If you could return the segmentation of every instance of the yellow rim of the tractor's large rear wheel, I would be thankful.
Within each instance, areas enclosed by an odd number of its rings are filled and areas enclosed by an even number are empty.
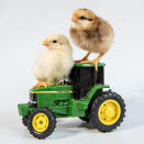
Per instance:
[[[121,115],[121,107],[115,100],[106,100],[101,103],[98,117],[106,125],[114,124]]]

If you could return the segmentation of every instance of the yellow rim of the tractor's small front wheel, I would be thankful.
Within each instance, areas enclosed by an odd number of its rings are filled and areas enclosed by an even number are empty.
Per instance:
[[[36,132],[44,132],[49,125],[49,120],[46,114],[37,113],[32,120],[32,125]]]

